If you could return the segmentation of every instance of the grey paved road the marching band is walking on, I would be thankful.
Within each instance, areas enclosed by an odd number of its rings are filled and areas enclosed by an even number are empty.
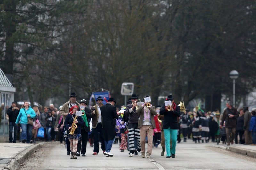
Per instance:
[[[89,145],[89,144],[88,144]],[[212,143],[194,144],[191,140],[187,143],[177,144],[176,158],[165,158],[160,156],[161,147],[153,148],[151,159],[138,156],[128,157],[128,151],[120,152],[118,144],[113,144],[111,153],[114,157],[106,157],[100,152],[99,155],[92,155],[93,148],[87,147],[86,157],[70,159],[66,150],[55,144],[49,154],[44,157],[41,165],[33,160],[23,164],[23,169],[239,169],[255,170],[256,159],[243,159],[245,156],[234,156],[234,154],[223,154],[212,150]],[[215,148],[216,149],[216,148]],[[44,149],[45,150],[45,149]],[[221,149],[220,149],[221,150]],[[229,152],[229,151],[227,151]],[[39,153],[39,152],[38,152]],[[165,152],[166,153],[166,152]],[[37,154],[37,153],[35,153]],[[40,157],[40,155],[37,155]],[[37,157],[36,156],[36,157]],[[41,155],[42,156],[42,155]],[[42,158],[42,157],[41,157]],[[35,165],[35,166],[34,166]]]

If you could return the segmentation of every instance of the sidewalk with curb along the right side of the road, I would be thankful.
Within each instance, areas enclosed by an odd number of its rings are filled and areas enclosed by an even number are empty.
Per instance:
[[[223,144],[215,144],[213,147],[216,148],[222,148],[222,149],[227,149],[229,151],[241,154],[241,155],[247,155],[253,158],[256,158],[256,146],[251,146],[251,145],[244,145],[244,144],[233,144],[230,146],[223,145]]]

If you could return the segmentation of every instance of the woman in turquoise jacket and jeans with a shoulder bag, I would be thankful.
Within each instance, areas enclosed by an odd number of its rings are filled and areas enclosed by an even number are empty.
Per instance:
[[[28,101],[24,101],[24,104],[21,106],[19,115],[16,119],[16,124],[19,124],[22,129],[21,132],[21,142],[22,143],[33,143],[31,140],[32,137],[32,128],[33,128],[33,118],[36,117],[35,111],[29,106]]]

